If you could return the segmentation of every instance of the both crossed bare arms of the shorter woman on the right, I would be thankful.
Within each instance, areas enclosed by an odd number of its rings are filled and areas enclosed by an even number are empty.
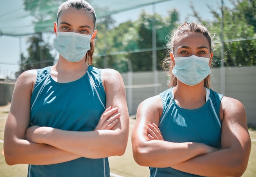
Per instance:
[[[135,161],[142,166],[172,167],[202,176],[241,176],[248,163],[251,141],[243,105],[223,97],[221,103],[222,148],[195,142],[164,141],[157,127],[162,114],[159,96],[141,103],[132,132]]]

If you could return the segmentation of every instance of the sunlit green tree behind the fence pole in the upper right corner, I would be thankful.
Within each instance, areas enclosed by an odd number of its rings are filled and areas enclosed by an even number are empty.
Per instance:
[[[256,65],[256,35],[255,35],[255,3],[256,0],[230,0],[233,7],[224,7],[224,52],[225,66],[255,66]],[[194,16],[198,21],[209,27],[210,31],[216,33],[214,42],[214,60],[216,65],[220,65],[221,55],[221,34],[222,34],[222,15],[209,7],[214,16],[212,22],[207,22],[199,17],[194,10]],[[220,7],[221,8],[221,7]],[[250,12],[252,11],[252,12]],[[254,15],[254,16],[253,16]]]

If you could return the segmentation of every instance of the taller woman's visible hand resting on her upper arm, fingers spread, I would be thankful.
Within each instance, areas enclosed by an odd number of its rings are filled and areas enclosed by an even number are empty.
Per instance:
[[[111,130],[119,121],[121,113],[118,113],[118,108],[109,106],[101,114],[99,122],[94,130]]]

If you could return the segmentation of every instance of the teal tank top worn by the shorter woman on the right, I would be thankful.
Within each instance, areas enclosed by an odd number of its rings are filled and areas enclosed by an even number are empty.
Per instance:
[[[173,98],[173,88],[160,93],[163,113],[159,129],[168,142],[198,142],[221,148],[220,101],[223,95],[207,89],[207,101],[201,108],[184,109]],[[200,167],[198,168],[200,170]],[[150,177],[196,177],[168,168],[150,167]]]

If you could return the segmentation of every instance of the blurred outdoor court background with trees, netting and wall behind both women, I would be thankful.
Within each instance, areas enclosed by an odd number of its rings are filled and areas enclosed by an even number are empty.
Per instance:
[[[26,176],[27,165],[7,166],[4,125],[18,76],[55,64],[53,23],[64,0],[8,0],[0,4],[0,176]],[[130,133],[137,106],[168,88],[161,67],[166,42],[178,26],[196,21],[213,38],[211,89],[240,100],[247,112],[252,151],[243,177],[256,175],[256,0],[88,0],[97,15],[92,66],[119,71],[126,86]],[[112,177],[146,177],[147,167],[111,157]]]

